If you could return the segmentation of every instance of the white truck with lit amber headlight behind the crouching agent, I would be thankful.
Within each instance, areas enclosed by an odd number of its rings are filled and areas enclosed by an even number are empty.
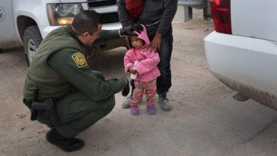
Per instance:
[[[100,13],[103,29],[120,28],[116,7],[116,0],[1,0],[0,49],[21,43],[29,63],[42,39],[53,29],[71,24],[80,10],[93,9]],[[123,40],[114,40],[100,48],[124,45]]]

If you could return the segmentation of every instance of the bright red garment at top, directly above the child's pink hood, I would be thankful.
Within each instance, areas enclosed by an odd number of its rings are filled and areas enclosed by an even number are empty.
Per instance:
[[[143,12],[143,0],[125,0],[125,9],[127,10],[129,21],[136,23],[141,12]]]

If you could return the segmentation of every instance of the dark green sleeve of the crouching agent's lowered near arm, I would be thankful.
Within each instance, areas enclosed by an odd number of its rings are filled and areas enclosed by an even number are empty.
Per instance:
[[[82,55],[74,49],[62,49],[51,55],[48,64],[78,90],[89,96],[93,101],[102,101],[120,92],[126,86],[124,78],[105,80],[99,71],[91,71],[88,65],[80,67],[73,55]],[[79,66],[79,67],[78,67]]]

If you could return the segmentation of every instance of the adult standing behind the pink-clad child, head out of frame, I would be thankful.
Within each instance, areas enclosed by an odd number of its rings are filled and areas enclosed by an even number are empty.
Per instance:
[[[177,0],[137,0],[139,3],[132,3],[134,0],[117,0],[119,21],[123,28],[134,23],[130,12],[140,13],[139,23],[146,26],[148,37],[151,41],[150,49],[159,51],[160,62],[158,64],[161,76],[157,78],[157,93],[159,104],[163,110],[171,110],[172,105],[168,101],[167,93],[171,87],[170,60],[172,53],[172,20],[177,11]],[[141,5],[141,2],[143,4]],[[132,95],[123,102],[122,107],[129,107]]]

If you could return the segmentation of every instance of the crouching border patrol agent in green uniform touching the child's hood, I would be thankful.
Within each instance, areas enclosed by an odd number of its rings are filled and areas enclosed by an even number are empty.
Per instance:
[[[24,103],[31,119],[51,128],[46,139],[65,151],[80,150],[80,132],[109,114],[114,94],[129,93],[126,78],[105,80],[102,73],[89,69],[87,57],[93,42],[105,42],[121,35],[134,35],[141,27],[101,31],[99,15],[80,12],[70,26],[55,29],[39,45],[28,68],[24,84]]]

